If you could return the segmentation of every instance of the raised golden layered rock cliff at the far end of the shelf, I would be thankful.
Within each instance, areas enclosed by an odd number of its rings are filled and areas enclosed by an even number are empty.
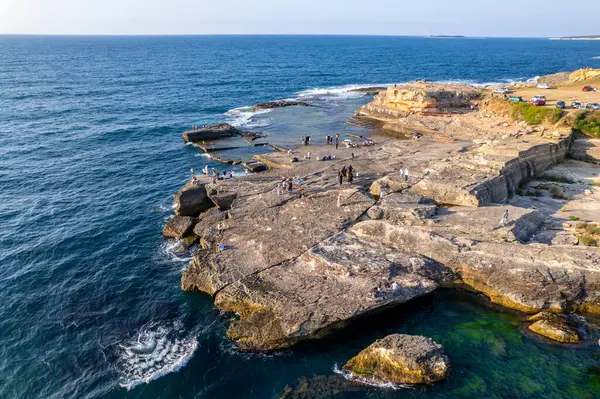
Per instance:
[[[357,115],[375,119],[393,119],[410,113],[454,113],[471,108],[478,99],[477,89],[462,85],[409,83],[390,86],[362,107]]]

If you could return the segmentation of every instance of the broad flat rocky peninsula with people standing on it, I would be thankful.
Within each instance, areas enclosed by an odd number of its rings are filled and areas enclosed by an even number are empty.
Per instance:
[[[600,313],[600,250],[588,246],[600,232],[600,168],[568,159],[569,126],[501,109],[469,86],[392,86],[357,111],[390,135],[349,141],[335,159],[323,160],[331,146],[311,146],[293,162],[259,156],[270,166],[260,174],[190,181],[165,229],[201,246],[182,288],[235,313],[228,336],[258,351],[439,287],[525,314]],[[344,165],[356,178],[340,185]],[[281,175],[302,187],[278,193]]]

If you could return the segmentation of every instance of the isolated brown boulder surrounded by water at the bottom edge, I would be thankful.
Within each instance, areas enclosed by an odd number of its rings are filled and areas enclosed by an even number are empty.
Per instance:
[[[392,334],[369,345],[344,370],[370,384],[430,384],[450,375],[450,361],[431,338]]]

